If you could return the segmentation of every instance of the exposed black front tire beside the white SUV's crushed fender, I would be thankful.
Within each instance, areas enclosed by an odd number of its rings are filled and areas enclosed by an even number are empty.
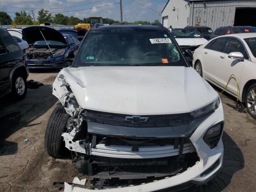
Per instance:
[[[61,136],[67,131],[66,123],[70,116],[64,107],[59,103],[53,110],[44,136],[44,149],[53,158],[70,157],[70,151],[65,147],[65,142]]]

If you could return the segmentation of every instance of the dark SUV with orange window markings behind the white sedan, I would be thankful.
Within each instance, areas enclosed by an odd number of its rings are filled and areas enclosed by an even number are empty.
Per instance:
[[[234,33],[255,33],[256,27],[252,26],[226,26],[226,27],[219,27],[217,28],[214,33],[211,35],[211,39],[227,35],[227,34],[234,34]]]

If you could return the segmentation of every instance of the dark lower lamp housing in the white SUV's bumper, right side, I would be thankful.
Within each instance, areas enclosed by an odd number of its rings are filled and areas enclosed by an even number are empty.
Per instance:
[[[217,146],[222,134],[222,127],[223,127],[223,122],[220,122],[210,127],[207,130],[207,132],[204,134],[204,137],[203,137],[204,142],[208,146],[210,146],[211,149]]]

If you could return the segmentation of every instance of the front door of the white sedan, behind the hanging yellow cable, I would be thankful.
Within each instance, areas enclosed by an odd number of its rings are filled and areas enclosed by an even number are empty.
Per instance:
[[[228,58],[228,54],[231,52],[240,52],[244,55],[244,61]],[[222,87],[226,86],[228,79],[232,74],[236,76],[236,80],[238,85],[240,85],[241,75],[244,68],[244,65],[249,62],[249,56],[247,50],[245,49],[244,44],[242,41],[236,37],[230,37],[228,40],[227,46],[224,50],[222,56],[222,70],[220,70],[220,79],[222,80]],[[234,95],[237,94],[237,86],[234,79],[230,80],[228,84],[228,91],[233,93]],[[242,90],[241,90],[242,91]]]

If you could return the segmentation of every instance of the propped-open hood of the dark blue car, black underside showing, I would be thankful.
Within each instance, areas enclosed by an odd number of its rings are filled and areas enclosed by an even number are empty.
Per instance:
[[[32,44],[36,41],[44,41],[41,32],[46,40],[59,41],[64,44],[67,43],[64,36],[60,32],[53,28],[44,26],[32,26],[24,28],[22,30],[22,36],[28,42],[28,44]]]

